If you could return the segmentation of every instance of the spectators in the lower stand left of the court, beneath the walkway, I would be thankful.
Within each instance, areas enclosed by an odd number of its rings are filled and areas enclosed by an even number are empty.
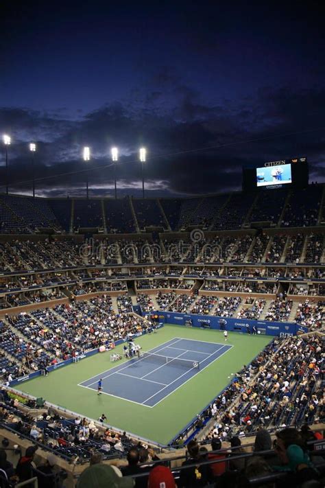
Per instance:
[[[138,316],[116,313],[108,296],[57,305],[53,310],[21,312],[7,316],[1,325],[0,349],[15,358],[19,371],[21,367],[37,371],[147,330],[147,323]],[[9,372],[12,379],[18,374]]]

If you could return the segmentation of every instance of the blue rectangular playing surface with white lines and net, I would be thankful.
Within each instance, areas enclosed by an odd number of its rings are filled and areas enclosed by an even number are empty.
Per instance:
[[[203,340],[173,338],[150,349],[142,357],[123,362],[78,386],[95,392],[101,378],[103,394],[154,407],[231,347]]]

